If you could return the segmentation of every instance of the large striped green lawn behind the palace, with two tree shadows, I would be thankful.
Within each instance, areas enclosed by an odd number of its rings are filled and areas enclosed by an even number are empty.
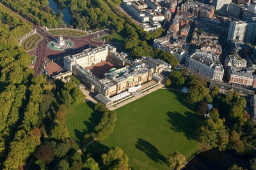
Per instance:
[[[173,150],[186,159],[199,150],[194,110],[179,92],[159,89],[118,108],[113,133],[100,143],[122,148],[134,169],[168,169],[164,161]]]

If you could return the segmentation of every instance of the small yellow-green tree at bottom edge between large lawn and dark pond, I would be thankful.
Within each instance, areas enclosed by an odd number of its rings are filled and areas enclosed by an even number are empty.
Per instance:
[[[186,158],[179,152],[175,151],[168,155],[168,157],[166,158],[166,164],[171,169],[179,170],[185,167]]]

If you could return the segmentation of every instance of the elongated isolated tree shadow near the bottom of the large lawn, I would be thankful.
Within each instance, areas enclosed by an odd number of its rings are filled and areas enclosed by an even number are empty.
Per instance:
[[[139,138],[135,146],[142,152],[146,153],[146,155],[155,162],[163,164],[166,160],[164,156],[159,153],[159,150],[148,141]]]

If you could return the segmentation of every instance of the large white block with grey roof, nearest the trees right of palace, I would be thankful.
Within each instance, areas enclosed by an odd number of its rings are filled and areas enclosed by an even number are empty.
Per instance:
[[[212,80],[222,81],[223,79],[224,69],[214,53],[196,50],[195,53],[186,57],[185,66]]]

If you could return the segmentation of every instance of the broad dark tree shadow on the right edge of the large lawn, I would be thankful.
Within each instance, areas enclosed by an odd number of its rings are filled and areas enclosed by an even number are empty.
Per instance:
[[[172,124],[171,129],[175,132],[184,132],[186,138],[194,139],[197,141],[198,139],[198,128],[200,124],[199,115],[195,115],[189,111],[186,111],[184,115],[180,114],[179,112],[167,112],[169,119],[167,120],[169,123]]]

